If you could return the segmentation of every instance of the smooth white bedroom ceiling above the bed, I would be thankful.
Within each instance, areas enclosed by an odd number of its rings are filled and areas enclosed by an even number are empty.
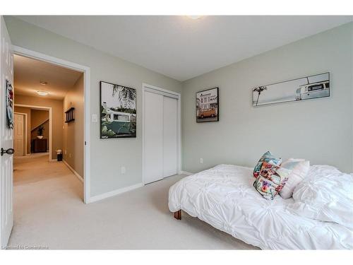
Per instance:
[[[352,16],[17,16],[185,81],[352,21]]]

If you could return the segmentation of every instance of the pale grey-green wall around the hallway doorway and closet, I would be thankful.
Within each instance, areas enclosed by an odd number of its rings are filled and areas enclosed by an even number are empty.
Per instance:
[[[137,90],[136,139],[100,139],[99,123],[91,123],[91,196],[142,182],[141,107],[142,83],[181,93],[182,86],[167,76],[100,52],[48,30],[5,17],[13,45],[90,67],[90,113],[99,114],[100,81],[118,83]],[[112,33],[114,34],[114,33]],[[109,41],[109,40],[102,40]],[[61,130],[62,131],[62,130]],[[126,174],[120,174],[120,167]]]

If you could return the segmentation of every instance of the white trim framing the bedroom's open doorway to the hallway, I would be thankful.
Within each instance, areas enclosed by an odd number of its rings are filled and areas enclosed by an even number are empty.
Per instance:
[[[56,64],[59,66],[66,67],[68,69],[73,69],[76,71],[80,71],[83,73],[84,79],[84,104],[85,104],[85,111],[84,111],[84,120],[85,126],[83,128],[84,131],[84,160],[83,160],[83,176],[84,176],[84,195],[83,201],[85,204],[90,202],[90,67],[83,66],[80,64],[73,63],[72,61],[66,61],[63,59],[59,59],[56,57],[49,56],[47,54],[42,54],[40,52],[35,52],[30,49],[25,49],[23,47],[19,47],[13,45],[13,53],[18,55],[23,55],[25,57],[30,57],[33,59],[38,59],[40,61],[47,61],[51,64]]]

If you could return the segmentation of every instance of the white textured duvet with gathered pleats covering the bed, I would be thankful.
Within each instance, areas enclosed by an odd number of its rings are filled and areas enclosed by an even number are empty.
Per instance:
[[[261,249],[353,249],[353,229],[297,216],[287,210],[292,198],[263,199],[254,180],[250,167],[217,165],[174,184],[169,210],[181,209]]]

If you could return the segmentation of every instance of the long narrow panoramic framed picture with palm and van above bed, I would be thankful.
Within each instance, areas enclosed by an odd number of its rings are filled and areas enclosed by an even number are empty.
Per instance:
[[[289,81],[253,88],[253,106],[310,100],[330,96],[330,73],[304,76]]]

